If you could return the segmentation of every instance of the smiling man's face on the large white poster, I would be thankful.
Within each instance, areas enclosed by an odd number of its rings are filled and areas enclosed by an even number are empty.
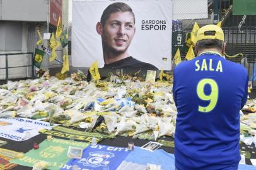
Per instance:
[[[134,16],[129,11],[110,14],[101,33],[106,50],[115,54],[125,52],[135,33]]]

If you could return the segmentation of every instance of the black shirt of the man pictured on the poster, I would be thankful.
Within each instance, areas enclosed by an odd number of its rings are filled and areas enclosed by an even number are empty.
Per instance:
[[[139,60],[136,60],[132,57],[127,57],[125,59],[119,60],[117,62],[113,62],[111,64],[105,64],[103,69],[146,69],[151,71],[156,71],[158,68],[156,68],[154,65],[141,62]]]

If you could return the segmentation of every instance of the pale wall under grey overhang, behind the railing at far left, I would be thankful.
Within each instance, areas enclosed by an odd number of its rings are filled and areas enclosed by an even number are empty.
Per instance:
[[[0,23],[0,54],[27,52],[27,28],[26,23]],[[3,38],[3,39],[2,39]],[[30,65],[31,55],[8,55],[8,67]],[[6,67],[5,55],[0,55],[0,68]],[[9,78],[21,78],[31,76],[29,67],[9,69]],[[0,79],[6,78],[6,70],[0,69]]]

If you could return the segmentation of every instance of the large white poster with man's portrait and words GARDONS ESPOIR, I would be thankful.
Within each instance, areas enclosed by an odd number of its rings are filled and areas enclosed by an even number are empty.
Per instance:
[[[139,60],[171,69],[172,1],[73,1],[72,16],[73,67],[90,67],[97,60],[102,68],[124,59],[125,52],[133,68]],[[121,64],[126,68],[127,60]]]

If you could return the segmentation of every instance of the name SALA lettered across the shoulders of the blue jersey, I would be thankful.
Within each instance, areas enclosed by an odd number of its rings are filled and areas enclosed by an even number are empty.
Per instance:
[[[199,60],[195,60],[195,71],[216,71],[223,72],[221,60],[218,61],[216,67],[212,67],[212,59],[209,60],[207,64],[206,59],[202,60],[202,63],[199,63]]]

